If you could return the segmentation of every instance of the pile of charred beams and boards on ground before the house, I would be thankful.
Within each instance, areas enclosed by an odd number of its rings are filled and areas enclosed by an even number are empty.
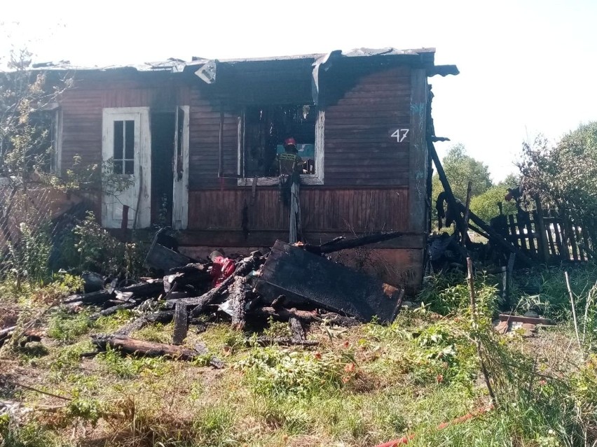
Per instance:
[[[399,236],[398,232],[385,232],[338,238],[321,246],[276,241],[268,253],[254,251],[231,259],[214,252],[209,260],[198,262],[154,242],[146,263],[163,274],[71,295],[62,306],[74,312],[92,308],[92,320],[121,309],[134,311],[135,318],[113,334],[92,336],[98,352],[110,346],[122,353],[194,360],[207,355],[207,348],[185,343],[189,328],[202,331],[215,321],[228,321],[242,330],[247,343],[315,346],[317,341],[307,339],[308,327],[314,322],[351,326],[373,319],[394,320],[404,290],[332,262],[326,255]],[[288,322],[291,336],[259,336],[271,321]],[[171,343],[132,337],[135,331],[158,322],[173,322]],[[215,357],[209,363],[223,365]]]

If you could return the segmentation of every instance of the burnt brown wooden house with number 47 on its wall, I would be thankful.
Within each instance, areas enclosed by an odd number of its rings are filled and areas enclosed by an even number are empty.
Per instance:
[[[107,228],[170,225],[181,253],[245,253],[288,240],[275,160],[292,137],[301,157],[299,239],[397,230],[343,262],[411,288],[430,231],[434,49],[334,51],[74,73],[55,108],[55,166],[107,162],[132,180],[96,197]]]

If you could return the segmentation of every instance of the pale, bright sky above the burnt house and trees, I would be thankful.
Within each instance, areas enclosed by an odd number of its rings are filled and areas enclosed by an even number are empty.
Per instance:
[[[8,2],[0,55],[106,66],[167,57],[261,57],[352,48],[437,48],[459,76],[430,79],[440,155],[452,143],[516,171],[521,143],[597,120],[597,0]],[[155,5],[155,6],[154,6]]]

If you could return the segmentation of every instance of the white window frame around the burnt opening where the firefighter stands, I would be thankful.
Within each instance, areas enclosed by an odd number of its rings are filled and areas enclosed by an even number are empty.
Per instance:
[[[245,126],[244,115],[238,119],[238,186],[252,186],[253,178],[245,177]],[[325,111],[317,113],[315,122],[315,173],[301,174],[302,185],[323,185],[324,184],[324,157],[325,155]],[[258,177],[257,186],[273,186],[280,183],[277,177]]]

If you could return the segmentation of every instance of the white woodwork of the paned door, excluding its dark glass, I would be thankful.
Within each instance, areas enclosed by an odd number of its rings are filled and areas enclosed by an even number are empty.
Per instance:
[[[123,206],[128,206],[128,228],[151,225],[151,127],[149,107],[104,108],[102,115],[102,162],[114,158],[114,122],[135,121],[133,184],[123,192],[108,194],[102,178],[102,226],[121,228]],[[109,166],[112,169],[112,166]]]

